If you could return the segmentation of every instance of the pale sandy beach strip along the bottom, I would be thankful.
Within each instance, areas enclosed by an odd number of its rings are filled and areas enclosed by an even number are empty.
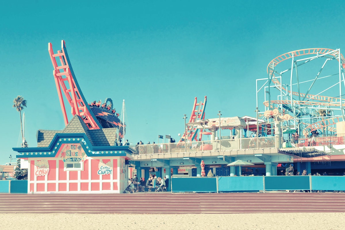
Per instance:
[[[345,229],[345,213],[81,214],[4,213],[0,229]]]

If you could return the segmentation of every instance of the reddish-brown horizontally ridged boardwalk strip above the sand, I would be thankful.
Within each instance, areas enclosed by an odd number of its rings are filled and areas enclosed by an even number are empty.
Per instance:
[[[345,193],[0,194],[0,213],[345,212]]]

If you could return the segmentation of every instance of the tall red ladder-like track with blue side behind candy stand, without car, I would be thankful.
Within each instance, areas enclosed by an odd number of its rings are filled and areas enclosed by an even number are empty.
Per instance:
[[[48,52],[54,67],[53,75],[65,125],[68,124],[68,118],[65,103],[63,101],[63,94],[72,108],[71,113],[73,116],[78,115],[83,117],[84,122],[88,125],[89,129],[102,128],[96,116],[90,111],[90,107],[81,92],[68,57],[65,41],[61,41],[61,50],[58,50],[56,54],[54,54],[52,44],[49,43]],[[57,62],[57,58],[60,61],[59,64]]]

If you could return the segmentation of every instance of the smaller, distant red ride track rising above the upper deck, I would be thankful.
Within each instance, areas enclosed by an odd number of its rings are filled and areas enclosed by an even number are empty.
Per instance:
[[[202,119],[205,119],[205,108],[206,108],[207,96],[205,96],[204,102],[197,103],[197,97],[194,98],[194,105],[192,112],[189,117],[189,122],[197,122]],[[198,107],[197,107],[198,106]],[[187,126],[185,132],[182,135],[182,138],[178,143],[184,142],[183,140],[196,140],[197,141],[198,129],[196,126]]]

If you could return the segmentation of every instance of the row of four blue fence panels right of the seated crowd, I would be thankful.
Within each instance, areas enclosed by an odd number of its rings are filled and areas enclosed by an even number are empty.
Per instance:
[[[171,192],[344,191],[344,176],[171,177]]]

